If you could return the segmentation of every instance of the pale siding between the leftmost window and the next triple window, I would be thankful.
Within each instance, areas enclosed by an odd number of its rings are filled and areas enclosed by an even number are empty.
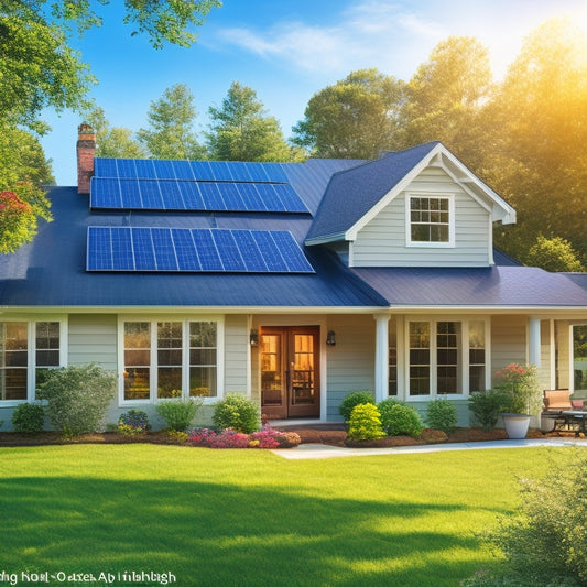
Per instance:
[[[117,317],[113,314],[70,314],[69,365],[97,362],[107,370],[117,367]]]

